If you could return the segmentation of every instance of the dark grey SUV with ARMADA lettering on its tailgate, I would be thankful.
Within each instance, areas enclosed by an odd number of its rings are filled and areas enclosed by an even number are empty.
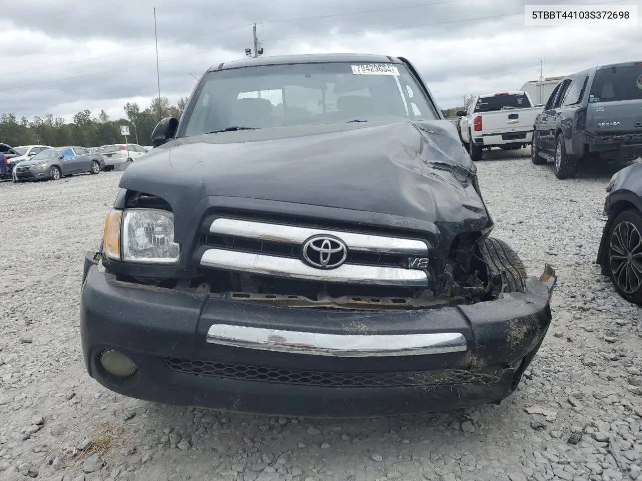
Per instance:
[[[593,67],[555,87],[535,118],[533,164],[553,162],[573,178],[586,158],[627,162],[642,156],[642,62]]]

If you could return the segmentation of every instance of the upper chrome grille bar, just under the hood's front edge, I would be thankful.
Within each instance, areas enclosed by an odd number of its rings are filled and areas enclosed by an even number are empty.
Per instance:
[[[209,232],[258,239],[260,241],[289,242],[291,244],[302,244],[313,235],[329,234],[341,239],[348,246],[348,249],[354,251],[380,254],[428,255],[428,244],[416,239],[398,239],[397,237],[385,237],[383,235],[338,232],[282,224],[240,221],[238,219],[223,219],[222,217],[214,219],[209,226]]]

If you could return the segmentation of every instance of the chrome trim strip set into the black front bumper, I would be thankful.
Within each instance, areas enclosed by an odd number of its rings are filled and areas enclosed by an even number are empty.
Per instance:
[[[467,350],[466,339],[459,332],[345,335],[226,324],[211,326],[207,331],[207,342],[235,348],[333,357],[419,356]]]

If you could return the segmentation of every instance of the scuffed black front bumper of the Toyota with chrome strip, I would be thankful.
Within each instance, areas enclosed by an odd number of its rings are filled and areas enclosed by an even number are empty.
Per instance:
[[[97,264],[87,253],[80,328],[85,366],[100,384],[169,405],[308,418],[501,401],[544,340],[555,285],[550,269],[502,300],[347,312],[119,282]],[[137,371],[109,375],[103,350],[125,353]]]

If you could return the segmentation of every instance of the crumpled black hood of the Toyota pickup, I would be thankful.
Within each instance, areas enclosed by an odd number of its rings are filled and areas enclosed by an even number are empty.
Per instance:
[[[175,212],[223,196],[483,224],[475,173],[449,121],[364,122],[172,140],[130,165],[120,187]]]

